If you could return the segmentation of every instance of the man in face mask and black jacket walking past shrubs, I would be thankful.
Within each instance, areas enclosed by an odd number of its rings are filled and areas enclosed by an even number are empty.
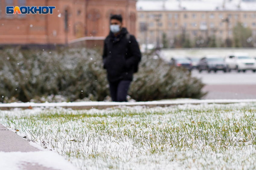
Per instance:
[[[110,33],[104,41],[103,63],[107,69],[110,94],[114,102],[127,102],[126,96],[141,60],[135,37],[123,28],[121,15],[110,18]]]

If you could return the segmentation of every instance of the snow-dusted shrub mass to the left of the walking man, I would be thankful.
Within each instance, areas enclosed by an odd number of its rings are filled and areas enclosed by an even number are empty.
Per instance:
[[[67,101],[88,96],[104,100],[108,95],[101,56],[95,50],[6,49],[0,56],[0,102],[2,96],[26,102],[51,94],[67,97]]]

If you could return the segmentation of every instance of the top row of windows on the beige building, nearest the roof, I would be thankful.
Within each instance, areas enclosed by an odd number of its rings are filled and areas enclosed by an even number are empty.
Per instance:
[[[243,18],[248,18],[249,16],[250,16],[251,18],[256,18],[256,13],[252,13],[252,14],[244,13],[242,16],[243,16]],[[139,14],[139,17],[140,17],[140,18],[144,18],[144,17],[145,17],[145,16],[144,16],[144,13],[140,13],[140,14]],[[147,17],[148,17],[148,18],[151,18],[151,19],[158,17],[159,19],[161,19],[161,18],[162,18],[162,14],[148,14]],[[184,17],[185,19],[186,19],[186,18],[189,18],[189,14],[186,14],[186,13],[185,13],[185,14],[183,15],[183,17]],[[191,14],[191,17],[195,19],[195,18],[198,17],[198,15],[195,14],[195,13],[192,13],[192,14]],[[224,16],[222,13],[220,13],[220,14],[218,15],[218,17],[219,17],[220,19],[223,19],[225,16]],[[228,14],[228,18],[232,18],[232,17],[234,17],[235,19],[238,19],[238,18],[239,18],[239,14],[234,14],[234,15]],[[179,14],[178,14],[178,13],[175,13],[175,14],[169,13],[169,14],[168,14],[168,19],[172,19],[172,18],[178,19],[178,18],[179,18]],[[202,18],[202,19],[205,19],[205,18],[206,18],[206,15],[205,15],[204,13],[201,14],[201,18]],[[209,15],[209,18],[211,18],[211,19],[215,18],[215,14],[214,14],[214,13],[211,13],[211,14]]]

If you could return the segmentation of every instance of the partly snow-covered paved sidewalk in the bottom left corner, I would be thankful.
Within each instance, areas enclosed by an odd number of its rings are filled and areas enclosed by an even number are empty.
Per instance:
[[[40,151],[2,124],[0,124],[0,157],[0,169],[3,170],[75,169],[71,163],[55,151]]]

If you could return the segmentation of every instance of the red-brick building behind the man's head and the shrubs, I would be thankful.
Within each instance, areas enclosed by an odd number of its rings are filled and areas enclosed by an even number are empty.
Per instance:
[[[55,6],[53,14],[6,14],[6,6]],[[68,44],[80,37],[104,38],[111,14],[122,14],[136,31],[136,0],[0,0],[0,45]]]

